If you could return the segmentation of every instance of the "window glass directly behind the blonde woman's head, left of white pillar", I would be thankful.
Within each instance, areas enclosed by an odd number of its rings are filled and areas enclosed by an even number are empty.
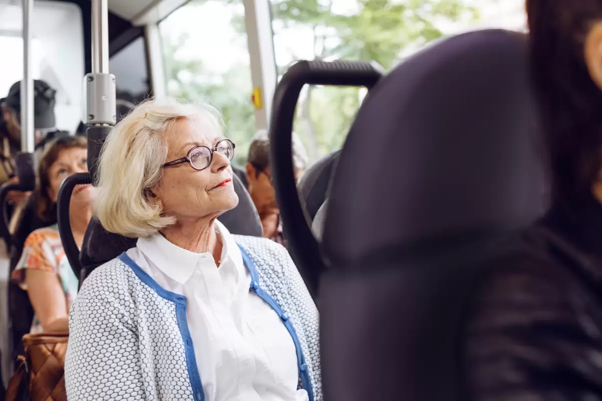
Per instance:
[[[193,0],[160,23],[169,96],[208,100],[222,112],[243,165],[255,133],[242,0]]]

